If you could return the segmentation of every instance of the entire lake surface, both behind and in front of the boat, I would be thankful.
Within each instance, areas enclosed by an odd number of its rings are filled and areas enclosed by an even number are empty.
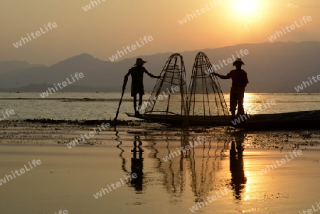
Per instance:
[[[38,93],[0,97],[1,111],[16,112],[8,119],[113,119],[120,94],[56,93],[50,95],[53,100],[39,99]],[[277,105],[262,113],[320,107],[319,94],[246,94],[245,108],[266,100]],[[119,119],[132,119],[124,112],[133,112],[129,94]],[[107,129],[95,135],[89,140],[92,145],[68,149],[59,141],[70,142],[93,127],[16,124],[0,129],[0,179],[33,159],[42,164],[2,183],[0,213],[299,214],[317,208],[320,200],[319,132],[119,127],[118,132]],[[181,146],[186,151],[179,153]],[[294,149],[302,154],[291,156]],[[135,178],[122,184],[128,174]]]

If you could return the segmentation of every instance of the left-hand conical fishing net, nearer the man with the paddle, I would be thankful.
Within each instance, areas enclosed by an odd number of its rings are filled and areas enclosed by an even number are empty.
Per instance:
[[[183,58],[175,53],[170,56],[156,82],[148,102],[142,104],[145,114],[186,114],[186,70]]]

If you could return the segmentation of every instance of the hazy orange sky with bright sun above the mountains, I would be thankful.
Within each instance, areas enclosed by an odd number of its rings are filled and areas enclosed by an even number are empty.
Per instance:
[[[132,52],[127,50],[119,60],[238,43],[264,43],[270,42],[268,37],[275,31],[282,31],[282,27],[295,21],[299,28],[286,31],[276,41],[320,41],[319,0],[96,2],[97,6],[91,5],[85,11],[82,7],[90,4],[90,0],[1,0],[0,60],[53,65],[80,53],[110,60],[117,50],[137,43],[141,47]],[[186,14],[192,14],[193,19],[179,23]],[[302,25],[299,18],[302,21],[303,16],[311,16],[312,20]],[[44,25],[49,22],[55,22],[56,27],[51,30],[47,27],[46,31]],[[45,33],[41,33],[41,27]],[[15,48],[13,44],[27,37],[27,33],[29,36],[34,33],[35,38]],[[152,36],[153,40],[142,45],[140,38],[144,36]]]

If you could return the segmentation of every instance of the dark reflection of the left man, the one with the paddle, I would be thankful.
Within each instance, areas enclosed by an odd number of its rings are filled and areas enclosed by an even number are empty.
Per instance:
[[[139,141],[139,145],[137,146],[137,141]],[[137,178],[134,178],[131,181],[131,185],[134,186],[136,191],[142,191],[142,183],[143,183],[143,167],[144,167],[144,159],[142,158],[142,153],[144,152],[140,146],[142,145],[142,141],[134,140],[134,149],[132,149],[133,157],[131,158],[131,174],[136,173]],[[137,159],[137,153],[139,153],[139,159]]]

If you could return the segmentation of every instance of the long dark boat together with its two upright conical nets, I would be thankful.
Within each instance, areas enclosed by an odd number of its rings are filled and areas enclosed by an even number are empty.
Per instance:
[[[187,90],[183,58],[170,56],[156,82],[143,114],[129,117],[175,127],[238,127],[246,130],[320,129],[320,110],[278,114],[242,115],[233,120],[206,54],[199,52]],[[177,88],[178,92],[170,89]],[[161,95],[161,99],[157,98]]]

